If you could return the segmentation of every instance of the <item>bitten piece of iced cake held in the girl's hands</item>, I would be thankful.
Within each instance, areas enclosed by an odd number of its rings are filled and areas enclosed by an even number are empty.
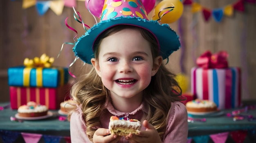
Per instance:
[[[127,136],[129,133],[137,134],[141,128],[141,123],[137,119],[119,119],[118,117],[111,116],[108,126],[111,134],[118,136]]]

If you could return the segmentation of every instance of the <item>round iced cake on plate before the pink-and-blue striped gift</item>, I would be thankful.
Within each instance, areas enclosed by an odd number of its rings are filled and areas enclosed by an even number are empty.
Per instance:
[[[217,111],[217,105],[209,100],[195,99],[186,103],[188,112],[213,112]]]

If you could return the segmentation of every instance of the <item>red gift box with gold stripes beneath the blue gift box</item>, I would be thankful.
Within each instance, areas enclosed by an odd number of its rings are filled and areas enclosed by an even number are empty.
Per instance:
[[[60,108],[61,102],[69,98],[70,85],[66,84],[57,88],[44,87],[13,87],[10,86],[10,102],[12,109],[34,101],[37,104],[46,105],[49,109]]]

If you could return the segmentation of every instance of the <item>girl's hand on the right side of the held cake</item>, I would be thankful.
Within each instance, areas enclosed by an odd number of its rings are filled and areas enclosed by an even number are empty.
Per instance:
[[[147,120],[143,121],[143,126],[146,130],[140,131],[137,135],[129,134],[126,140],[130,143],[162,143],[157,130]]]

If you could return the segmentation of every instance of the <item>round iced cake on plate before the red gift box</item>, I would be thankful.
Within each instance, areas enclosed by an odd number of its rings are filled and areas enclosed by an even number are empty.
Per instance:
[[[48,108],[45,105],[36,104],[30,101],[26,105],[18,108],[18,115],[20,117],[41,117],[47,115]]]

